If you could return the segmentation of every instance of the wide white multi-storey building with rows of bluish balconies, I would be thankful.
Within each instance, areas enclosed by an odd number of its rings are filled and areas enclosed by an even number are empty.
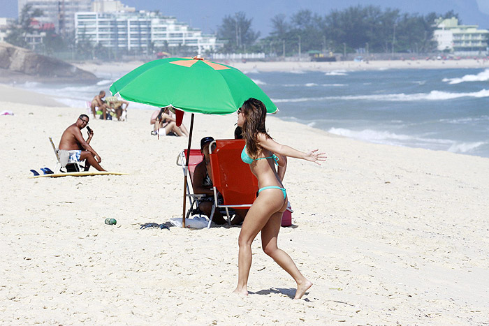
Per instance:
[[[118,52],[146,53],[159,49],[202,54],[222,46],[216,36],[156,12],[83,12],[75,14],[75,42],[103,45]]]

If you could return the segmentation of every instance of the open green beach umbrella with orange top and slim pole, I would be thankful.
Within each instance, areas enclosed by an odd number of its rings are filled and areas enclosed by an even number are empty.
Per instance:
[[[190,152],[194,113],[231,114],[248,98],[262,101],[268,113],[277,112],[277,106],[247,75],[236,68],[216,64],[201,57],[168,58],[150,61],[127,73],[110,86],[112,95],[124,100],[175,108],[177,125],[183,113],[191,112]],[[182,226],[185,227],[187,170],[185,163]]]

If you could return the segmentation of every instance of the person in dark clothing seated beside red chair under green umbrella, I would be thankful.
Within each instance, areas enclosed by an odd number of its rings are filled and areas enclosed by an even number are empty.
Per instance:
[[[212,137],[204,137],[200,140],[200,152],[203,154],[204,159],[202,162],[198,163],[194,172],[194,193],[202,193],[205,197],[200,198],[200,204],[198,208],[207,216],[212,214],[212,206],[214,205],[214,191],[212,190],[212,170],[210,168],[210,154],[209,145],[214,141]],[[219,193],[217,195],[217,202],[219,205],[223,203],[222,195]],[[241,223],[245,219],[247,210],[246,209],[236,209],[235,217],[231,221],[231,225],[237,224],[235,221]],[[212,221],[216,224],[225,224],[226,220],[222,216],[219,209],[214,210],[214,216],[212,216]]]

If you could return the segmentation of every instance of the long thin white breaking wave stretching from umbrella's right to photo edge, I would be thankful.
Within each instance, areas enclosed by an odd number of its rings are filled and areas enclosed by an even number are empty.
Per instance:
[[[309,101],[326,100],[345,100],[345,101],[390,101],[390,102],[409,102],[409,101],[446,101],[461,97],[483,98],[489,97],[489,90],[482,89],[471,93],[451,93],[447,91],[430,91],[430,93],[417,94],[376,94],[376,95],[346,95],[346,96],[321,96],[309,98],[277,98],[276,103],[298,103]]]

